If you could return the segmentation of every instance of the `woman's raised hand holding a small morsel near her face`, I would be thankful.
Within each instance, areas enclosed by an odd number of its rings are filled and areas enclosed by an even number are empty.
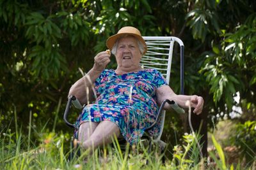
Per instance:
[[[99,71],[100,73],[106,68],[110,62],[110,52],[106,50],[105,52],[100,52],[94,57],[93,70]]]

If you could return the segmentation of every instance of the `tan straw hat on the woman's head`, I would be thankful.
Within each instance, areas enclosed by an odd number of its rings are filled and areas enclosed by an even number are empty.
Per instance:
[[[142,38],[140,31],[135,27],[122,27],[117,34],[109,37],[106,41],[106,45],[108,46],[109,50],[112,50],[113,46],[115,45],[116,39],[120,38],[123,35],[132,35],[136,37],[143,45],[144,45],[144,52],[143,55],[147,52],[147,45]]]

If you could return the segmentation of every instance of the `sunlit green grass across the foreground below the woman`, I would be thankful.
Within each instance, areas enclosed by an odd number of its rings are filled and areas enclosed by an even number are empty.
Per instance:
[[[37,127],[40,129],[37,131],[31,126],[31,113],[29,115],[28,134],[22,134],[16,116],[15,132],[9,127],[1,129],[0,169],[253,169],[253,165],[227,164],[225,152],[214,136],[212,143],[216,150],[209,153],[213,163],[207,165],[207,160],[200,157],[197,143],[200,137],[196,134],[184,135],[183,145],[167,150],[172,157],[165,157],[157,146],[151,153],[147,146],[140,145],[121,150],[115,140],[111,146],[97,148],[92,155],[82,152],[80,157],[68,160],[72,151],[70,135],[55,129],[49,131],[47,124]]]

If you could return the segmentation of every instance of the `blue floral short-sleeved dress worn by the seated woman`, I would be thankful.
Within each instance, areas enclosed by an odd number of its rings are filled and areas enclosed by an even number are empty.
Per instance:
[[[76,127],[83,122],[109,120],[118,125],[127,142],[137,143],[145,128],[156,120],[159,110],[156,89],[166,84],[163,75],[155,69],[127,74],[105,69],[94,84],[97,99],[84,107]],[[157,136],[159,128],[157,125],[150,134]],[[77,130],[74,135],[77,136]]]

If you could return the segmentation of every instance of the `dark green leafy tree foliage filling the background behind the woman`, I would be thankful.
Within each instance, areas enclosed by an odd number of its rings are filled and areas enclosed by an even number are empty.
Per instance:
[[[35,121],[49,119],[60,99],[62,113],[78,68],[88,71],[106,39],[125,25],[184,41],[185,93],[203,96],[205,112],[228,114],[234,105],[246,112],[255,106],[255,7],[249,0],[0,0],[1,122],[14,108],[21,122],[29,111]],[[179,92],[176,53],[171,86]],[[234,101],[237,92],[246,106]]]

